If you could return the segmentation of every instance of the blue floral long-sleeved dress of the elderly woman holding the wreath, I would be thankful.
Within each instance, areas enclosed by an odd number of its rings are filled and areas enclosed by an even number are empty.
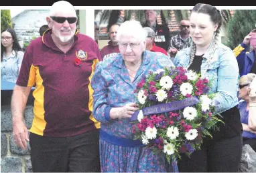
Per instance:
[[[154,154],[152,148],[133,140],[129,118],[109,118],[111,108],[136,102],[134,90],[141,77],[166,66],[174,66],[170,57],[144,51],[141,66],[131,81],[121,53],[97,64],[91,84],[93,115],[101,122],[101,172],[167,172],[168,166],[168,172],[178,172],[175,161],[170,168],[164,154]]]

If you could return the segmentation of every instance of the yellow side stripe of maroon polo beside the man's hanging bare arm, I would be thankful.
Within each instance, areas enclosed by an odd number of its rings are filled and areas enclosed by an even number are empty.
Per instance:
[[[32,73],[31,71],[34,71]],[[36,74],[35,76],[31,75]],[[33,77],[36,78],[36,90],[33,92],[33,96],[35,98],[34,102],[34,120],[32,122],[32,127],[30,132],[34,134],[38,134],[43,136],[44,129],[46,128],[46,121],[44,120],[44,85],[43,79],[40,75],[39,67],[35,67],[31,65],[30,73],[29,73],[29,81],[33,81]]]

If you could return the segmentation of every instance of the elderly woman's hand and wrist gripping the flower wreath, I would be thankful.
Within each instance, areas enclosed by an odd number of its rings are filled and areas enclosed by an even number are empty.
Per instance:
[[[131,118],[131,116],[137,111],[139,108],[135,103],[127,104],[120,108],[112,108],[110,110],[110,118]]]

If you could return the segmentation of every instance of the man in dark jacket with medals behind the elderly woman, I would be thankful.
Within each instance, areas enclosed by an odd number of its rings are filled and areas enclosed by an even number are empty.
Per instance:
[[[157,11],[145,10],[145,20],[143,27],[151,27],[155,31],[155,45],[168,51],[170,44],[170,29],[165,25],[157,23]]]

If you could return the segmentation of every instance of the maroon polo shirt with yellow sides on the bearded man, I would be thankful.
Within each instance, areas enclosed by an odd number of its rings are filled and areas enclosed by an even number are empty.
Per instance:
[[[64,53],[51,37],[52,30],[31,41],[25,51],[17,85],[33,86],[34,120],[30,132],[66,137],[100,128],[92,116],[90,80],[101,60],[97,43],[76,32],[72,47]],[[81,64],[74,63],[75,58]]]

